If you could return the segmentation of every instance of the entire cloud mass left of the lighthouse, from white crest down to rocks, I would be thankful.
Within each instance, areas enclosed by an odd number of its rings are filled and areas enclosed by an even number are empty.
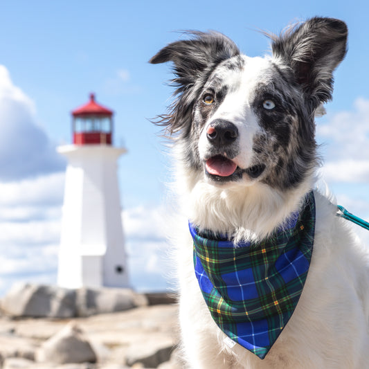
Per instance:
[[[0,66],[0,294],[56,281],[65,164],[35,111]]]

